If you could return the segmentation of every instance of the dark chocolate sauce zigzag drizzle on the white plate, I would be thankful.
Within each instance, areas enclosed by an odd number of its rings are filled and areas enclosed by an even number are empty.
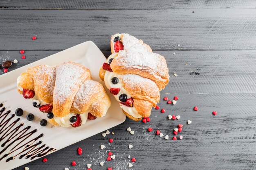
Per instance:
[[[41,133],[34,139],[29,140],[31,138],[30,136],[36,133],[37,130],[36,129],[31,130],[31,126],[27,126],[22,129],[22,127],[24,126],[24,123],[20,123],[20,124],[18,123],[20,121],[20,118],[11,122],[12,119],[15,117],[15,114],[12,114],[9,118],[7,118],[7,116],[11,113],[11,111],[5,111],[5,110],[6,108],[3,107],[3,104],[1,103],[0,104],[0,135],[2,136],[0,136],[0,142],[3,141],[4,139],[5,141],[1,145],[2,149],[0,150],[0,161],[5,157],[9,156],[10,154],[16,152],[20,148],[22,148],[22,151],[20,151],[20,153],[17,153],[15,156],[12,156],[6,159],[6,162],[9,162],[10,160],[15,159],[18,156],[19,156],[19,159],[22,159],[23,157],[25,157],[25,159],[29,159],[29,158],[34,159],[35,157],[42,157],[47,153],[50,153],[56,150],[54,148],[50,148],[49,146],[46,146],[45,144],[42,144],[43,141],[41,140],[37,142],[37,140],[40,137],[43,137],[43,133]],[[13,144],[16,142],[18,142],[18,144],[14,146]],[[25,144],[22,144],[24,142]],[[4,151],[9,148],[11,148],[9,153],[1,156],[1,154],[4,153]]]

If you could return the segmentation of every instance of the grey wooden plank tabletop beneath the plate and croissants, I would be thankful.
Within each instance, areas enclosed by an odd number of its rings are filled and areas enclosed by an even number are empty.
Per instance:
[[[134,170],[255,170],[255,8],[255,0],[2,0],[0,60],[18,60],[9,71],[88,40],[108,57],[110,36],[130,33],[166,58],[170,74],[159,102],[166,113],[153,109],[146,124],[127,118],[110,129],[115,135],[99,133],[46,156],[45,163],[38,159],[16,170],[85,170],[88,163],[92,169],[121,170],[128,169],[128,154],[136,158]],[[20,59],[22,49],[26,59]],[[168,105],[164,96],[180,99]],[[194,106],[199,110],[193,111]],[[169,114],[181,118],[170,121]],[[175,141],[171,138],[177,124],[184,124],[177,135],[184,138]],[[157,129],[169,139],[154,135]],[[116,155],[114,161],[106,161],[101,144]],[[72,167],[72,161],[77,165]]]

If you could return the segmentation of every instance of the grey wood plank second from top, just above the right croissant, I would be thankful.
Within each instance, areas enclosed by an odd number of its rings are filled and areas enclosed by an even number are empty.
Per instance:
[[[130,33],[153,50],[255,50],[255,9],[0,10],[0,50],[63,50]],[[13,19],[15,18],[15,19]],[[33,35],[38,39],[31,40]]]

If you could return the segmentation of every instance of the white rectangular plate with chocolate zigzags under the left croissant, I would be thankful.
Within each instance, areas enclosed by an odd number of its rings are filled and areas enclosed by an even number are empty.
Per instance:
[[[106,58],[104,57],[102,52],[99,50],[99,48],[92,41],[87,41],[0,76],[0,103],[4,103],[3,107],[5,107],[6,110],[10,110],[12,114],[15,113],[15,110],[17,108],[22,108],[24,110],[23,116],[21,117],[15,116],[12,119],[12,121],[9,122],[10,124],[17,118],[20,118],[20,121],[16,123],[16,125],[13,126],[12,129],[17,127],[21,122],[23,122],[24,126],[22,126],[20,130],[24,129],[27,126],[31,126],[30,131],[34,129],[38,130],[36,133],[31,135],[29,139],[33,139],[38,135],[40,135],[41,133],[43,133],[44,134],[43,137],[38,139],[37,142],[41,140],[43,141],[43,144],[46,144],[46,146],[55,148],[56,150],[60,150],[66,146],[69,146],[83,139],[86,139],[92,135],[95,135],[102,131],[106,131],[107,129],[110,129],[114,126],[117,126],[118,124],[121,124],[126,119],[126,116],[124,115],[121,108],[119,107],[117,100],[115,100],[115,98],[109,94],[111,99],[111,107],[108,109],[106,116],[104,116],[103,118],[97,118],[96,120],[88,121],[78,128],[56,127],[56,126],[51,126],[50,123],[48,123],[47,126],[45,127],[40,126],[39,121],[41,119],[47,119],[46,113],[42,113],[37,108],[33,107],[30,99],[24,99],[22,95],[20,95],[17,92],[16,79],[22,72],[25,72],[28,68],[31,68],[35,65],[38,65],[38,64],[56,65],[64,61],[74,61],[76,63],[85,65],[85,67],[90,69],[92,78],[100,82],[101,80],[99,78],[99,69],[101,68],[102,63],[106,62]],[[33,113],[35,116],[35,119],[33,121],[28,121],[26,119],[27,113]],[[12,114],[9,114],[9,117]],[[0,124],[1,124],[1,120],[2,118],[0,118]],[[2,127],[0,127],[0,130],[1,128]],[[4,133],[0,134],[0,138],[3,136],[3,134]],[[18,136],[14,137],[13,139],[16,139],[17,137]],[[1,145],[7,139],[8,137],[0,141],[0,151],[3,150],[6,146],[8,146],[9,143],[11,143],[12,140],[8,142],[4,147],[2,147]],[[28,142],[27,140],[25,141]],[[25,141],[22,142],[22,144],[25,144],[26,143]],[[13,146],[15,146],[18,143],[19,142],[15,142],[9,148],[7,148],[7,150],[5,150],[2,154],[0,154],[0,158],[4,154],[9,153],[11,148],[13,148]],[[36,142],[34,142],[34,144],[35,143]],[[0,169],[2,170],[13,169],[39,158],[39,157],[35,157],[34,159],[31,160],[23,157],[22,159],[19,159],[20,155],[18,155],[15,159],[10,160],[9,162],[6,162],[7,158],[15,156],[18,153],[22,152],[24,147],[16,150],[15,152],[8,155],[6,158],[2,159],[0,161]],[[50,153],[53,153],[53,152],[50,152]]]

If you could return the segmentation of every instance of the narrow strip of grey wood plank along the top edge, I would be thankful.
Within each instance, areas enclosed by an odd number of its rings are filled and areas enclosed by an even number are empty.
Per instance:
[[[218,9],[256,8],[254,0],[11,0],[0,9]]]

